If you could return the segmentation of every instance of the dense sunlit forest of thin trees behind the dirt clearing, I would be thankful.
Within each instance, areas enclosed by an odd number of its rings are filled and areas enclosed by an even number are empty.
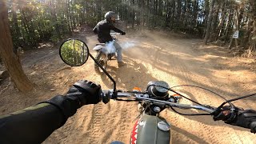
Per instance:
[[[132,29],[197,34],[205,43],[230,43],[239,30],[236,45],[248,54],[256,50],[254,0],[10,0],[7,7],[16,49],[56,42],[76,26],[94,26],[113,10]]]

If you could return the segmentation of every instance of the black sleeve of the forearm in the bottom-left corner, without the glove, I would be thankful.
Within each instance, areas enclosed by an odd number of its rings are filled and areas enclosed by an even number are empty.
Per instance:
[[[0,118],[0,143],[41,143],[65,122],[56,106],[31,106]]]

